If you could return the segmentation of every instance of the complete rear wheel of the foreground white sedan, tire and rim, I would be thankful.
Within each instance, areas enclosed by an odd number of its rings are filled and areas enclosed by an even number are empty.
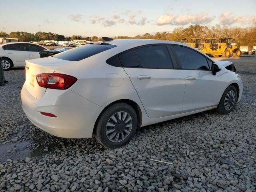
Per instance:
[[[132,106],[115,103],[100,116],[96,125],[95,137],[107,148],[125,145],[136,132],[138,117]]]

